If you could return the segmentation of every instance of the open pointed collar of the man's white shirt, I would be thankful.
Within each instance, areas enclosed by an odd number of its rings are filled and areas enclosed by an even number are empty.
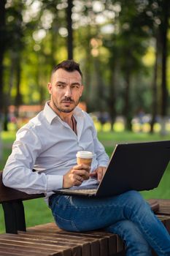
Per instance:
[[[52,123],[52,121],[53,121],[53,119],[54,118],[60,118],[54,111],[53,111],[53,109],[52,108],[50,108],[50,106],[49,106],[49,102],[46,102],[45,103],[45,108],[44,108],[44,116],[45,116],[45,118],[47,119],[47,121],[49,122],[49,124],[51,124]],[[74,114],[74,116],[83,116],[83,114],[82,114],[82,109],[81,108],[79,108],[79,107],[76,107],[75,109],[74,109],[74,111],[73,111],[73,114]]]

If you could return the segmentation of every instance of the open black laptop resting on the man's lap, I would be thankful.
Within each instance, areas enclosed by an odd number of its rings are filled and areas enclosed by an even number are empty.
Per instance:
[[[158,187],[170,160],[170,140],[117,144],[101,182],[58,189],[63,195],[108,197]]]

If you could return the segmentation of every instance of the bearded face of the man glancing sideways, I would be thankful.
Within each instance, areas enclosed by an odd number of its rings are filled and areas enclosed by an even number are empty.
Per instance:
[[[82,77],[77,70],[67,72],[61,68],[57,69],[48,83],[48,91],[51,94],[50,104],[53,110],[70,113],[82,96]]]

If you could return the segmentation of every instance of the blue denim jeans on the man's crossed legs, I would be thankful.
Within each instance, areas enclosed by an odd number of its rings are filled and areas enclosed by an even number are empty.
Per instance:
[[[159,256],[170,256],[169,233],[139,192],[104,198],[53,195],[50,208],[63,230],[117,233],[128,256],[151,256],[151,247]]]

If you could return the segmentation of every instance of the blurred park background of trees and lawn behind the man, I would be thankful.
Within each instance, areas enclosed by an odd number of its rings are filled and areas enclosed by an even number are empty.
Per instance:
[[[15,132],[49,99],[50,72],[64,59],[80,63],[80,107],[109,156],[115,143],[169,140],[169,17],[169,0],[0,0],[1,170]],[[170,165],[158,189],[142,195],[170,198],[169,184]],[[36,211],[41,222],[52,219],[38,202],[30,225]]]

